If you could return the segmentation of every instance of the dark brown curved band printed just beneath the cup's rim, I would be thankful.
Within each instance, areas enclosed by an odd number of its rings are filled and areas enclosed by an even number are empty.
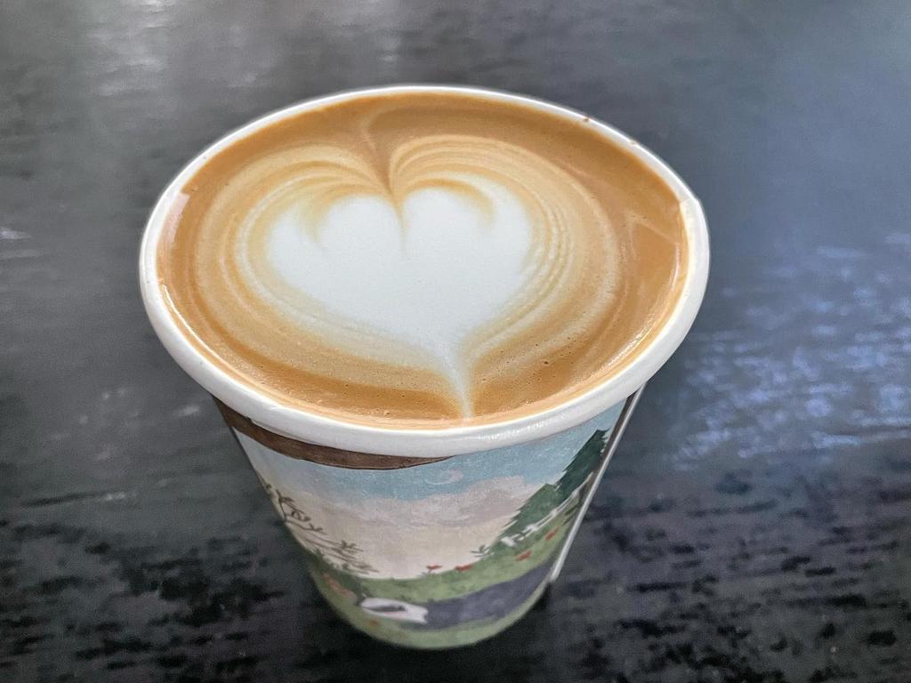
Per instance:
[[[439,463],[445,458],[414,458],[400,455],[377,455],[370,453],[357,453],[356,451],[343,451],[330,446],[320,446],[315,443],[304,443],[288,436],[281,436],[259,424],[251,421],[233,408],[221,403],[214,396],[215,405],[221,416],[232,429],[249,436],[253,441],[261,443],[276,453],[287,455],[297,460],[307,460],[316,464],[327,464],[332,467],[344,467],[349,470],[401,470],[405,467],[416,467],[420,464]]]

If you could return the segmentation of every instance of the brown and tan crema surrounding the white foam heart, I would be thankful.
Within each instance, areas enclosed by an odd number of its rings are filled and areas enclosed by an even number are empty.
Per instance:
[[[427,189],[492,225],[497,198],[511,198],[529,234],[522,286],[453,340],[458,382],[426,348],[346,319],[270,265],[283,217],[302,217],[302,243],[321,249],[339,202],[380,199],[403,216]],[[667,321],[687,249],[674,192],[588,119],[415,91],[292,114],[208,158],[175,203],[158,269],[189,341],[256,392],[344,422],[434,429],[538,413],[616,375]]]

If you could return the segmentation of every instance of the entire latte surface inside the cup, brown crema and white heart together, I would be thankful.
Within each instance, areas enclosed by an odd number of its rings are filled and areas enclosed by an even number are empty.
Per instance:
[[[677,301],[679,202],[587,119],[480,95],[363,95],[209,158],[159,242],[175,321],[278,403],[488,423],[636,357]]]

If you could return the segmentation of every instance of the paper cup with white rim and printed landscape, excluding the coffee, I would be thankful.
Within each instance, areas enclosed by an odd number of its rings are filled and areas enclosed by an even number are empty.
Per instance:
[[[469,87],[401,86],[304,102],[222,138],[184,168],[148,220],[139,274],[149,320],[179,365],[216,399],[316,586],[354,627],[408,647],[493,636],[530,609],[560,570],[640,395],[689,331],[705,291],[708,231],[699,201],[659,158],[591,121],[680,199],[686,275],[662,329],[623,370],[541,413],[445,429],[386,429],[283,406],[207,360],[171,317],[159,286],[159,239],[180,189],[220,149],[261,127],[347,97],[456,91],[560,117],[584,115]]]

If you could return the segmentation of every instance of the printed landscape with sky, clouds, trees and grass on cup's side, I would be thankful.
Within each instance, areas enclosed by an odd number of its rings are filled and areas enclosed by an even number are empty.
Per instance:
[[[534,605],[618,413],[401,470],[345,470],[241,444],[343,617],[390,642],[446,647],[493,635]]]

